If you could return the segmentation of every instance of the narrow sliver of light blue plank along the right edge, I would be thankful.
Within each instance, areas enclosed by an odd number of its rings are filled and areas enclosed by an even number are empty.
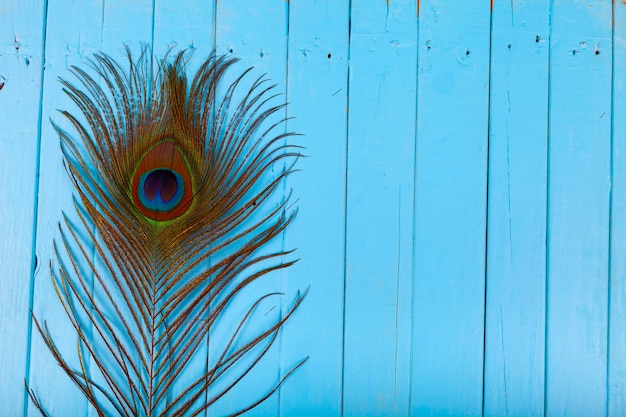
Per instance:
[[[613,22],[613,112],[609,265],[608,415],[626,413],[626,4],[616,2]],[[605,51],[606,52],[606,51]]]

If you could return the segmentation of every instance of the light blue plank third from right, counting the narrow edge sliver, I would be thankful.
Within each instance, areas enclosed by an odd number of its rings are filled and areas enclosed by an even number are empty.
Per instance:
[[[543,416],[549,17],[493,5],[485,416]]]

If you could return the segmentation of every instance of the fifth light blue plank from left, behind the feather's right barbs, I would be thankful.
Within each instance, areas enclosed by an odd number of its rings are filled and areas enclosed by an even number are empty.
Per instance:
[[[216,9],[216,46],[219,54],[232,54],[240,58],[241,62],[233,67],[225,77],[223,88],[239,76],[245,69],[254,66],[254,70],[241,85],[235,94],[233,103],[247,93],[252,81],[266,73],[270,84],[277,83],[276,93],[285,93],[287,67],[287,18],[288,3],[282,1],[264,0],[254,4],[246,0],[218,2]],[[224,91],[222,90],[222,91]],[[218,91],[219,94],[219,91]],[[277,98],[273,104],[284,103],[285,96]],[[232,108],[231,108],[232,110]],[[263,125],[269,127],[285,116],[281,111],[273,115]],[[263,128],[261,129],[263,130]],[[275,131],[275,134],[284,132],[284,127]],[[269,176],[266,178],[269,180]],[[277,203],[282,198],[275,195],[271,203]],[[269,207],[269,206],[267,206]],[[260,215],[260,214],[259,214]],[[260,217],[257,217],[260,219]],[[262,249],[262,253],[280,251],[283,248],[281,240],[275,240]],[[293,258],[292,256],[290,258]],[[210,359],[217,357],[220,347],[232,333],[232,328],[226,323],[237,323],[243,313],[258,297],[263,294],[283,291],[283,275],[279,272],[270,273],[250,285],[240,297],[229,307],[228,315],[222,323],[218,323],[215,332],[210,335]],[[276,319],[281,312],[281,305],[291,305],[292,300],[287,298],[273,298],[258,310],[257,321],[247,327],[248,336],[252,336],[268,324],[272,318]],[[265,321],[263,321],[265,319]],[[221,328],[220,328],[221,325]],[[230,326],[232,327],[232,326]],[[237,411],[250,403],[260,399],[278,381],[281,375],[280,340],[265,354],[261,362],[233,389],[211,408],[212,415],[225,415]],[[239,368],[241,369],[241,368]],[[211,392],[209,393],[211,395]],[[279,398],[277,394],[271,396],[261,405],[248,413],[251,416],[278,415]]]

